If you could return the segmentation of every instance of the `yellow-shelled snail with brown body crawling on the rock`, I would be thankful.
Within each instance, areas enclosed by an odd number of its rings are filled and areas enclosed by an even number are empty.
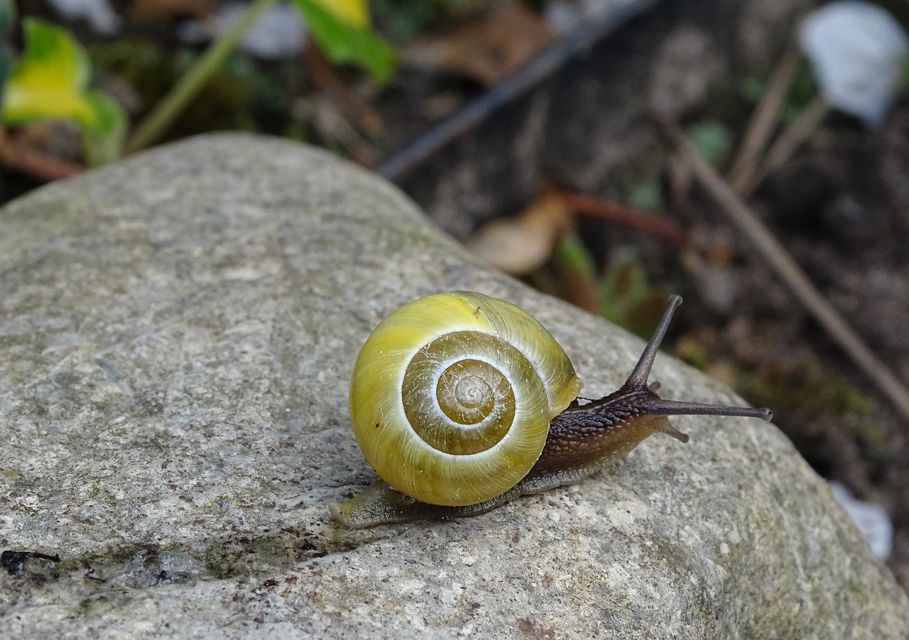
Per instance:
[[[381,477],[329,505],[344,525],[482,514],[520,495],[570,485],[655,433],[688,441],[667,415],[769,409],[664,400],[647,383],[682,298],[673,295],[624,385],[581,404],[581,381],[554,337],[518,306],[454,291],[397,309],[366,340],[350,415]]]

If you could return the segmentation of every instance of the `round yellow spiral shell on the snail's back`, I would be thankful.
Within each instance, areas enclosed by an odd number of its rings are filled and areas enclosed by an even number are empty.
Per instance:
[[[516,485],[581,381],[533,316],[497,298],[429,295],[366,340],[350,414],[386,483],[432,505],[475,505]]]

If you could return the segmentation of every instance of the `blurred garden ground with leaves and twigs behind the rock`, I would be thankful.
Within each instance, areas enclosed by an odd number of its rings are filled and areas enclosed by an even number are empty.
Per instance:
[[[189,135],[319,145],[731,385],[909,585],[909,4],[0,0],[0,199]],[[0,227],[2,228],[2,227]]]

